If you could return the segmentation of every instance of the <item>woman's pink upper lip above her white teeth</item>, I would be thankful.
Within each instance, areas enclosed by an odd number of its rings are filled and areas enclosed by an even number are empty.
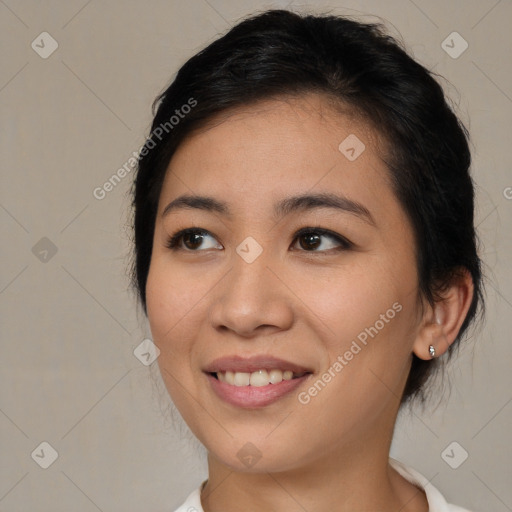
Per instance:
[[[226,356],[212,361],[204,368],[207,373],[217,372],[246,372],[252,373],[258,370],[290,370],[293,373],[311,373],[312,370],[299,364],[272,357],[269,355],[259,355],[251,357]]]

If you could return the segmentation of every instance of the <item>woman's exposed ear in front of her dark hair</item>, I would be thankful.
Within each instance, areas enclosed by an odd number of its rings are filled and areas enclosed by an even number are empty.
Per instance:
[[[443,355],[455,341],[473,300],[473,279],[465,268],[460,269],[441,292],[434,306],[428,305],[413,345],[420,359]],[[430,354],[430,346],[435,355]]]

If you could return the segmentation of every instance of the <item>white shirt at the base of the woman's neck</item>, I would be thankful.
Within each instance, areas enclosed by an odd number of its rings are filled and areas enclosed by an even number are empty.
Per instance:
[[[391,467],[393,467],[407,481],[416,485],[425,492],[429,512],[470,512],[465,508],[447,503],[443,498],[443,495],[428,481],[428,479],[421,473],[418,473],[415,469],[412,469],[395,459],[389,459],[389,463]],[[201,484],[201,486],[199,486],[195,491],[190,493],[188,498],[185,500],[185,503],[176,509],[175,512],[204,512],[201,505],[201,488],[204,483],[205,482],[203,482],[203,484]]]

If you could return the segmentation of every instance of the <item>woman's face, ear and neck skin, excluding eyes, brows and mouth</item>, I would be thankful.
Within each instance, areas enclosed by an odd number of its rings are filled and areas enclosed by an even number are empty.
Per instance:
[[[355,134],[366,146],[349,161],[338,146]],[[219,118],[187,138],[163,184],[147,281],[147,309],[160,370],[185,421],[208,450],[207,512],[234,510],[427,511],[424,493],[388,464],[412,353],[442,355],[470,304],[466,275],[434,308],[418,300],[413,232],[380,159],[378,134],[326,98],[273,99]],[[335,192],[364,205],[375,224],[332,208],[272,213],[278,200]],[[181,194],[229,204],[231,218],[165,206]],[[200,227],[211,235],[194,250],[166,247],[172,234]],[[353,246],[321,236],[322,227]],[[247,263],[236,247],[248,236],[263,252]],[[192,249],[190,249],[192,247]],[[307,389],[366,327],[392,305],[392,320],[306,405]],[[260,409],[219,399],[203,368],[214,359],[270,354],[313,375],[299,390]],[[237,457],[252,443],[261,458]]]

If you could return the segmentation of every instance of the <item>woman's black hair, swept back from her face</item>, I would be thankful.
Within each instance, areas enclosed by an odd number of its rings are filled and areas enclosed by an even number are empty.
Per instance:
[[[433,73],[381,24],[343,16],[280,9],[253,15],[185,62],[155,100],[132,204],[132,284],[144,312],[158,200],[179,144],[220,113],[306,93],[348,107],[386,141],[381,158],[414,231],[419,297],[433,305],[461,270],[471,274],[473,299],[451,355],[483,311],[469,134]],[[424,385],[437,365],[437,359],[413,354],[402,404],[413,396],[425,397]]]

